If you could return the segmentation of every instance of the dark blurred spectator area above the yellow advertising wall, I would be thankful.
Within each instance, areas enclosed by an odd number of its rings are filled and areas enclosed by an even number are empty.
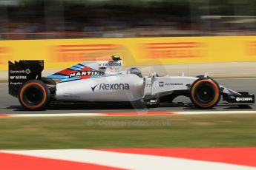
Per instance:
[[[256,35],[254,0],[0,0],[0,38]]]

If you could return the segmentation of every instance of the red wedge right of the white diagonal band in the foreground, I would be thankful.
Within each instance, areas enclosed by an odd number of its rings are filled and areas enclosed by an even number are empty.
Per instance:
[[[150,154],[191,160],[231,163],[256,167],[256,148],[183,148],[183,149],[101,149],[111,152]]]

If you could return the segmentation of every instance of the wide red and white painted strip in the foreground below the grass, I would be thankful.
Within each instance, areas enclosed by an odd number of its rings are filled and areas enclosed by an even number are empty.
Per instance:
[[[256,148],[0,151],[0,169],[256,169]]]

